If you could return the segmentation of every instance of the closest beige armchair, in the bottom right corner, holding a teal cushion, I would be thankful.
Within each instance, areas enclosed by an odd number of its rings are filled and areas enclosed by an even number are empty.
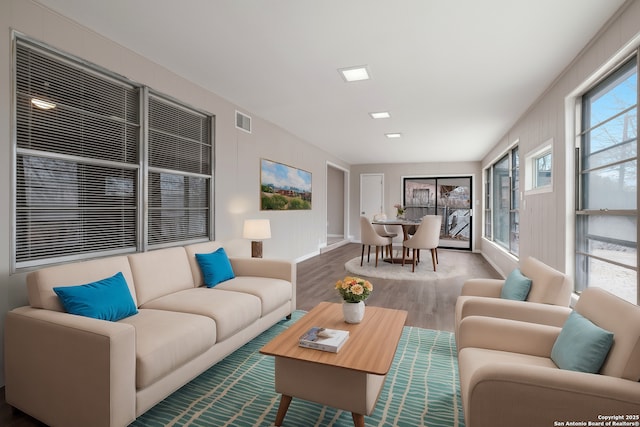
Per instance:
[[[624,417],[640,414],[640,307],[589,288],[575,311],[614,334],[597,374],[557,367],[551,353],[560,327],[486,316],[462,320],[456,340],[466,427],[553,426],[614,415],[639,421]]]

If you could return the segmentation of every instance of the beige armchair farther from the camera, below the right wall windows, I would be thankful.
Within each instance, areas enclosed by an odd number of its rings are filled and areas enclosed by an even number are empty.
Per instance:
[[[560,271],[533,258],[524,258],[520,271],[531,279],[526,301],[500,298],[503,279],[469,279],[456,301],[455,330],[466,316],[491,316],[562,326],[571,311],[572,281]],[[543,306],[543,307],[540,307]]]

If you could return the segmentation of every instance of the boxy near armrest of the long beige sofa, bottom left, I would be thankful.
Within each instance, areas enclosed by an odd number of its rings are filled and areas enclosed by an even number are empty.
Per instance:
[[[5,318],[6,401],[49,425],[123,426],[136,416],[131,325],[20,307]]]

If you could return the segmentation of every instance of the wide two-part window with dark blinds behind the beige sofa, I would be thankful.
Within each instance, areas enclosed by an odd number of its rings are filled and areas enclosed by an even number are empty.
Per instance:
[[[14,90],[14,270],[209,238],[210,116],[21,36]]]

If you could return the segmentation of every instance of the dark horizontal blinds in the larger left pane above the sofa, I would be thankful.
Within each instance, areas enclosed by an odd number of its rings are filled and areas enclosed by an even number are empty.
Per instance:
[[[15,91],[16,267],[134,251],[138,88],[18,40]]]

